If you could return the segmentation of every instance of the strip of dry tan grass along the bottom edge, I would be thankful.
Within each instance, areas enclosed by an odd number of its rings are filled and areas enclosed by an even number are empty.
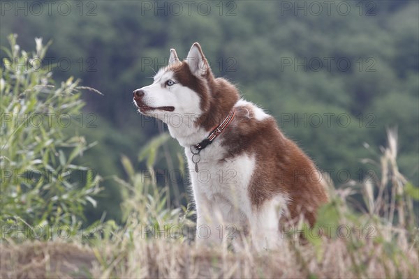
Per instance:
[[[134,241],[82,248],[76,243],[24,243],[1,247],[1,278],[418,278],[418,252],[383,261],[385,246],[365,241],[355,262],[343,239],[324,240],[321,258],[313,247],[288,242],[284,250],[198,248],[187,243]],[[121,245],[122,244],[122,245]],[[118,247],[117,247],[118,246]],[[291,247],[293,246],[293,247]]]

